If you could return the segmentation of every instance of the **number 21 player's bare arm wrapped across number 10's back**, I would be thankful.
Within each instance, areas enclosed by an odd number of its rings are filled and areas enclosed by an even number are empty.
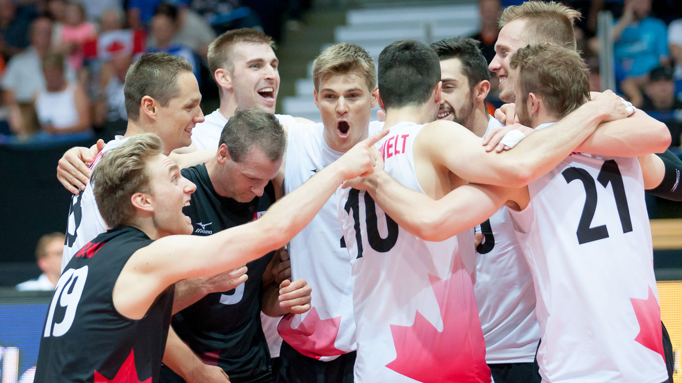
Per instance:
[[[348,186],[367,189],[374,202],[401,228],[426,241],[443,241],[480,224],[500,209],[515,190],[467,184],[433,200],[404,187],[383,171],[365,177],[362,184],[358,181]]]

